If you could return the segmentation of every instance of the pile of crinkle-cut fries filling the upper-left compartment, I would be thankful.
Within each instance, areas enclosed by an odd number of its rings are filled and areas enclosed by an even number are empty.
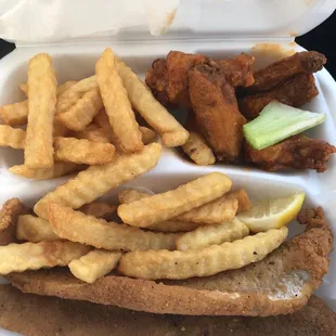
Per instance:
[[[10,171],[25,178],[52,179],[105,165],[116,155],[143,151],[156,134],[168,147],[189,138],[111,49],[98,60],[94,76],[59,87],[51,56],[38,54],[20,88],[27,100],[0,107],[0,146],[24,150],[24,165]]]

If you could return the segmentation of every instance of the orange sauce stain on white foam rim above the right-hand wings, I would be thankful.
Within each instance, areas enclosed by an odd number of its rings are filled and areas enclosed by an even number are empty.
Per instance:
[[[250,54],[256,57],[254,69],[258,70],[295,54],[295,43],[257,43],[251,48]]]

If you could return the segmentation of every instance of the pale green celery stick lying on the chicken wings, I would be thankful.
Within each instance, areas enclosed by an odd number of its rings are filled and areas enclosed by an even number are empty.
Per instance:
[[[243,130],[245,139],[255,150],[263,150],[324,120],[324,113],[312,113],[272,101],[256,119],[244,125]]]

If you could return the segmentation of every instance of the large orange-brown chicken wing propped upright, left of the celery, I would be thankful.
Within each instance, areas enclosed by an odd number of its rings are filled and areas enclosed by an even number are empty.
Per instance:
[[[190,70],[189,90],[197,125],[219,160],[236,161],[243,142],[243,125],[234,88],[216,66]]]

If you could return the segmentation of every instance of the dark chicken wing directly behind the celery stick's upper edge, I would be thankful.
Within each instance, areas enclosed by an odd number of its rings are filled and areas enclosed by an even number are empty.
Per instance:
[[[299,74],[270,91],[246,95],[238,100],[242,114],[249,120],[258,117],[262,108],[273,100],[294,107],[300,107],[319,94],[315,78]]]

